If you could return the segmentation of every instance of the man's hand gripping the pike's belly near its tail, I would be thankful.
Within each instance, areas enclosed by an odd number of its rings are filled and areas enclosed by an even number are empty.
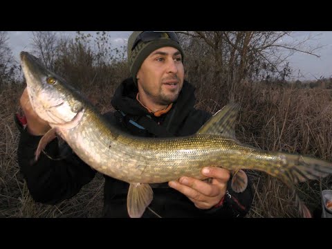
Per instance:
[[[206,183],[185,176],[181,177],[179,181],[170,181],[169,187],[185,194],[197,208],[209,209],[219,203],[225,195],[230,172],[219,167],[205,167],[202,169],[202,174],[212,178],[212,182]]]

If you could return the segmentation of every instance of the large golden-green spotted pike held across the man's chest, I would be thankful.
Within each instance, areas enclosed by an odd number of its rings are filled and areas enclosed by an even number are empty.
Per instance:
[[[234,134],[237,104],[223,107],[192,136],[130,136],[109,124],[86,98],[36,57],[26,52],[20,57],[33,109],[52,128],[40,140],[35,159],[50,140],[61,136],[93,169],[130,183],[127,209],[131,217],[142,216],[151,203],[149,183],[165,183],[181,176],[203,180],[201,169],[205,166],[229,169],[235,192],[242,192],[248,184],[242,169],[266,172],[291,188],[332,173],[332,164],[324,160],[241,144]],[[303,216],[311,216],[298,196],[297,204]]]

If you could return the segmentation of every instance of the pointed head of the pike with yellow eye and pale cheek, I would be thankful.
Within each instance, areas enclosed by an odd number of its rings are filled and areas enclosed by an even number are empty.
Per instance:
[[[73,120],[83,105],[75,98],[75,89],[30,53],[22,51],[20,59],[30,103],[39,118],[51,126]]]

